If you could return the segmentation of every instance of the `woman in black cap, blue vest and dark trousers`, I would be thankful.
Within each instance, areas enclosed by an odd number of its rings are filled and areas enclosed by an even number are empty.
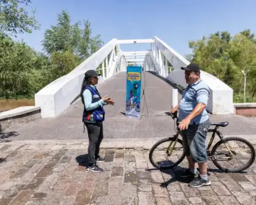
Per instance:
[[[98,84],[99,73],[95,70],[88,70],[85,73],[83,84],[81,86],[81,100],[84,105],[83,111],[83,123],[88,131],[89,146],[88,157],[89,166],[88,171],[102,172],[102,168],[99,168],[96,163],[104,162],[99,156],[100,143],[103,139],[103,127],[102,122],[105,120],[104,106],[107,104],[114,105],[114,101],[108,96],[101,98],[96,85]]]

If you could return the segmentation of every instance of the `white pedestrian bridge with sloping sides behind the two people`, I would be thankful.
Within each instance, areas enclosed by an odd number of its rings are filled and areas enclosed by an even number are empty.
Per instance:
[[[127,43],[147,43],[149,46],[147,51],[122,51],[122,45]],[[104,86],[118,84],[119,81],[126,84],[126,67],[127,65],[134,65],[134,63],[143,67],[143,71],[147,73],[145,77],[148,74],[154,74],[160,76],[158,78],[159,83],[160,81],[170,82],[170,92],[173,87],[187,86],[181,67],[186,67],[190,62],[158,37],[135,40],[113,38],[69,74],[56,79],[36,93],[35,106],[40,107],[42,118],[57,117],[70,107],[80,95],[81,83],[87,70],[97,70],[102,73],[99,87],[101,84]],[[168,65],[171,65],[171,68]],[[119,81],[114,81],[118,73],[124,73],[123,77],[118,77]],[[206,82],[211,91],[207,107],[208,112],[217,115],[234,113],[232,88],[204,71],[201,71],[201,79]],[[146,83],[146,87],[151,89],[151,93],[161,92],[161,87],[155,86],[156,82],[154,82],[154,86],[151,86],[150,80]],[[173,86],[171,87],[171,85]],[[122,99],[118,96],[113,96],[113,98],[121,101],[120,103],[123,103],[125,107],[125,98]],[[154,98],[154,94],[152,94],[152,98]],[[171,98],[171,95],[162,95],[161,98]],[[161,101],[159,98],[155,100]]]

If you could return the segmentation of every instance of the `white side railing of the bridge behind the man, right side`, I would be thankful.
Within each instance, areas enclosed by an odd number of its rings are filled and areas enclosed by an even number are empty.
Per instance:
[[[149,54],[151,54],[151,58],[155,59],[156,63],[159,65],[160,75],[167,77],[173,84],[187,87],[184,71],[181,70],[181,67],[189,65],[190,62],[187,59],[170,48],[170,46],[158,37],[154,37],[154,43],[151,43],[151,52],[149,52]],[[170,73],[167,70],[167,60],[173,67]],[[217,79],[217,77],[205,71],[201,71],[200,77],[208,85],[211,92],[207,106],[208,111],[213,114],[234,113],[233,89]]]

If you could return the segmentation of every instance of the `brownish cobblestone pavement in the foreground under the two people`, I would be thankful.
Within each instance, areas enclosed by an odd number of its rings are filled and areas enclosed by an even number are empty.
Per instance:
[[[255,204],[256,164],[245,173],[211,170],[212,185],[198,189],[174,170],[149,162],[153,142],[102,143],[102,173],[86,171],[85,142],[0,143],[0,204]]]

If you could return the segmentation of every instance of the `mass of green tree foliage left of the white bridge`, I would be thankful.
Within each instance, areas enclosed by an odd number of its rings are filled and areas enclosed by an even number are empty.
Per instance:
[[[45,85],[55,81],[77,67],[103,44],[100,35],[92,37],[91,24],[80,22],[70,24],[66,11],[58,15],[56,26],[45,31],[43,48],[37,52],[23,41],[15,41],[12,34],[32,32],[36,21],[28,16],[18,3],[28,4],[30,0],[0,0],[0,97],[34,98]]]

